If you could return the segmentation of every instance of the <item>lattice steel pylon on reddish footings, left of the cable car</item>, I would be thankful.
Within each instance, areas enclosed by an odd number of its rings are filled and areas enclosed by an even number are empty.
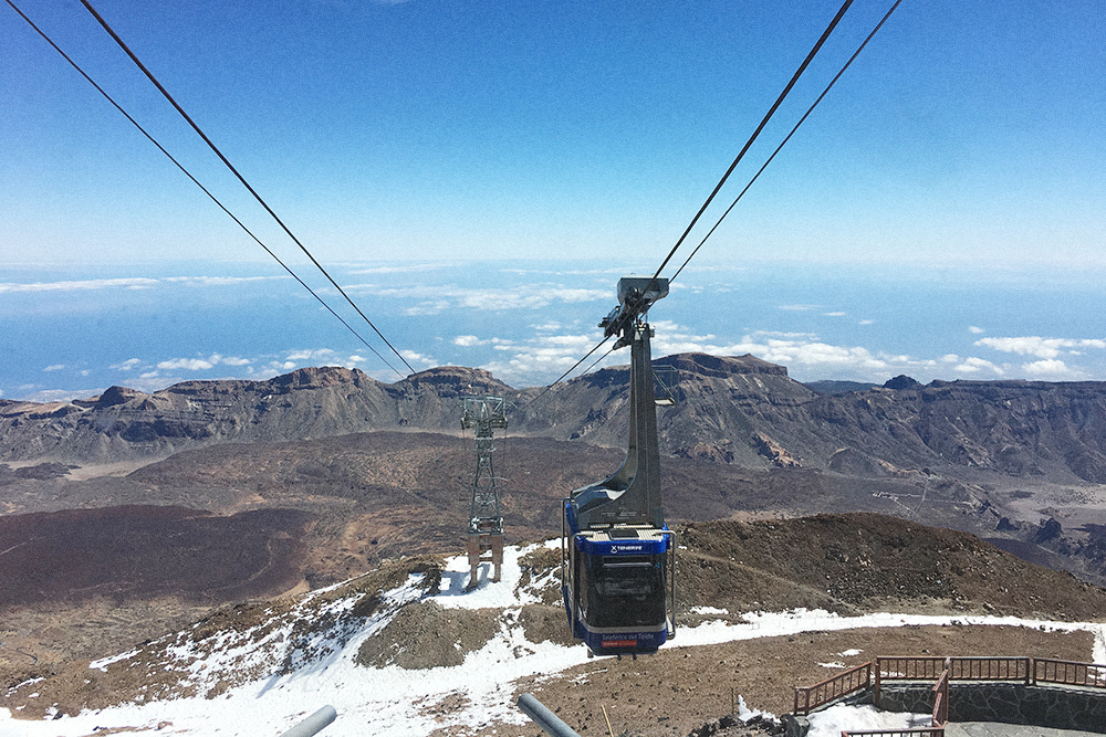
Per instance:
[[[480,561],[490,560],[492,581],[499,581],[503,568],[503,515],[499,509],[499,486],[492,463],[494,430],[507,429],[507,402],[502,397],[465,397],[463,430],[477,438],[477,471],[472,478],[472,507],[469,512],[469,587],[476,588]]]

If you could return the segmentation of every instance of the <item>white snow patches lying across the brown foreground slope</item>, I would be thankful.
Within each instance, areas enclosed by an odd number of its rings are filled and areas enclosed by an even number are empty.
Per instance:
[[[540,544],[555,547],[556,541]],[[436,728],[465,725],[480,727],[499,722],[522,725],[528,718],[515,707],[513,683],[525,676],[552,676],[561,671],[587,662],[582,645],[565,647],[550,642],[535,644],[525,640],[518,627],[518,614],[525,603],[538,601],[538,591],[546,581],[531,581],[520,588],[520,558],[538,546],[508,547],[504,550],[502,580],[488,580],[488,565],[481,566],[481,581],[472,591],[466,591],[468,561],[465,556],[450,559],[442,575],[440,593],[432,599],[446,608],[501,608],[505,612],[497,636],[482,649],[471,652],[461,665],[407,671],[392,665],[382,668],[366,667],[355,662],[362,643],[379,632],[398,607],[421,596],[417,576],[388,592],[390,606],[380,607],[374,615],[356,630],[331,630],[313,638],[332,638],[327,642],[309,642],[314,652],[323,655],[303,662],[291,649],[291,625],[285,623],[264,630],[263,636],[249,632],[223,632],[218,636],[220,647],[204,652],[187,639],[174,645],[170,652],[179,670],[188,672],[190,682],[207,692],[219,678],[220,672],[251,672],[259,677],[244,685],[229,688],[215,698],[202,695],[145,704],[124,704],[98,712],[83,712],[75,717],[63,716],[53,720],[28,722],[14,719],[10,712],[0,708],[0,734],[4,737],[80,737],[92,734],[97,727],[114,728],[116,734],[138,734],[154,730],[158,724],[170,723],[160,731],[167,735],[220,736],[240,735],[276,737],[324,705],[337,710],[337,719],[322,733],[323,737],[425,737]],[[334,587],[332,587],[333,589]],[[298,611],[336,613],[354,606],[354,599],[336,599],[320,608],[307,609],[322,592],[304,598]],[[723,613],[708,608],[701,614]],[[879,613],[864,617],[838,617],[820,610],[791,612],[749,612],[739,623],[721,620],[703,622],[695,628],[680,628],[671,647],[700,646],[752,640],[807,631],[852,630],[859,628],[901,627],[906,624],[963,624],[1022,625],[1054,631],[1088,630],[1095,634],[1095,661],[1106,662],[1106,632],[1103,624],[1044,622],[1013,617],[929,617],[917,614]],[[109,664],[132,657],[122,653],[94,661],[90,667],[106,668]],[[298,667],[281,674],[273,667],[274,659],[293,657]],[[859,654],[845,651],[841,656]],[[594,661],[593,661],[594,662]],[[833,665],[837,665],[836,663]],[[584,676],[581,676],[584,677]],[[444,698],[450,698],[449,708],[431,710]],[[849,709],[843,712],[841,709]],[[434,712],[439,712],[435,714]],[[742,718],[759,712],[749,709],[741,702]],[[838,735],[839,725],[860,728],[869,718],[864,709],[833,707],[816,717],[821,731],[812,735]],[[834,716],[841,715],[841,716]],[[859,715],[859,716],[857,716]],[[717,716],[717,715],[707,715]],[[873,719],[875,714],[869,715]],[[884,718],[879,715],[878,718]],[[901,719],[901,715],[894,717]],[[834,722],[834,719],[838,719]],[[900,723],[896,723],[900,724]],[[904,725],[905,726],[905,725]]]

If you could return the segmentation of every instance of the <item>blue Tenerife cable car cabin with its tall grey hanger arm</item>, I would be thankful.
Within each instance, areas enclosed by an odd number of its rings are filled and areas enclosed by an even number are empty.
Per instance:
[[[599,655],[656,652],[675,633],[675,535],[660,499],[660,452],[644,316],[668,280],[627,276],[602,323],[630,347],[629,440],[611,477],[574,491],[562,517],[561,581],[572,634]]]

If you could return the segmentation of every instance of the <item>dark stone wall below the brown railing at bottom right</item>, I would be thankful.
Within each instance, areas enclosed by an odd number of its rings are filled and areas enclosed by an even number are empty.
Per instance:
[[[879,708],[932,712],[932,684],[879,686]],[[1106,734],[1106,692],[1021,683],[949,684],[949,722],[998,722]]]

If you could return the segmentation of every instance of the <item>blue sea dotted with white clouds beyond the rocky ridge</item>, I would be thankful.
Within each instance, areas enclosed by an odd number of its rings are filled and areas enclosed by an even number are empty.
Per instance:
[[[324,266],[356,309],[311,264],[293,266],[303,283],[275,263],[0,270],[0,399],[62,401],[113,385],[155,391],[305,366],[394,382],[458,365],[517,388],[544,386],[628,361],[609,344],[581,358],[602,340],[597,325],[617,305],[618,278],[651,275],[629,263],[552,259]],[[654,357],[752,354],[800,381],[1098,381],[1104,276],[701,263],[676,276],[648,319]]]

